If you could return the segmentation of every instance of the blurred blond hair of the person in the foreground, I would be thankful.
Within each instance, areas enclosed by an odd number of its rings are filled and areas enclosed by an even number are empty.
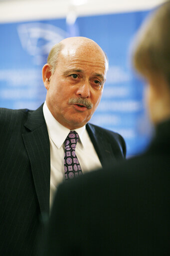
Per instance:
[[[135,68],[144,76],[161,73],[170,83],[170,0],[149,16],[135,43]]]

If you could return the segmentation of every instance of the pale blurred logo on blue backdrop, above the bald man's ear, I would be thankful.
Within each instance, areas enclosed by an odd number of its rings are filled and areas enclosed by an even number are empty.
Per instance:
[[[23,49],[34,57],[37,65],[44,62],[55,43],[67,37],[67,32],[63,29],[41,22],[20,24],[17,31]]]

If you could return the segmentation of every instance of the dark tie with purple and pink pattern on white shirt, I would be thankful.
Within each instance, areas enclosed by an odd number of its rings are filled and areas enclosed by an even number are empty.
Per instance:
[[[82,175],[81,166],[75,153],[78,139],[79,136],[77,132],[70,130],[65,140],[64,171],[66,180]]]

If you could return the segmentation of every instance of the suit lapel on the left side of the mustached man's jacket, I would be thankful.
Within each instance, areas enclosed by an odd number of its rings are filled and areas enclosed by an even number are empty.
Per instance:
[[[49,213],[50,145],[42,105],[28,113],[22,138],[30,160],[41,213]]]

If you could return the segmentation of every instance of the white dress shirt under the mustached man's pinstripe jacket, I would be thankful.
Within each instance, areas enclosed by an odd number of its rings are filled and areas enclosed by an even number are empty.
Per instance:
[[[65,179],[64,175],[64,141],[70,129],[60,124],[49,111],[46,101],[43,105],[43,114],[47,125],[50,142],[50,207],[57,185]],[[76,156],[82,172],[101,168],[101,162],[86,130],[86,126],[75,129],[79,135],[76,144]]]

